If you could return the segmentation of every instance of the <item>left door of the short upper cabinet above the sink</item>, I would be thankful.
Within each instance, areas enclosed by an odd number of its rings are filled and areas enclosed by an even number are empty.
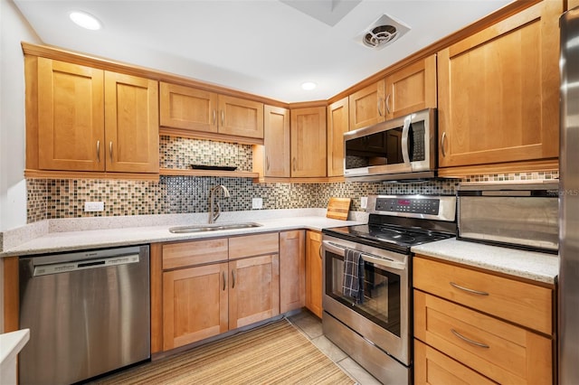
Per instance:
[[[217,94],[165,82],[159,88],[161,126],[217,132]]]

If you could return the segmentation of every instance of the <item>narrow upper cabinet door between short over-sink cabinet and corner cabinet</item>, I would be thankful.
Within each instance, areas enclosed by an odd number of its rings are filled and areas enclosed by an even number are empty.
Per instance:
[[[265,159],[263,174],[270,177],[289,177],[289,110],[264,106],[263,145]]]

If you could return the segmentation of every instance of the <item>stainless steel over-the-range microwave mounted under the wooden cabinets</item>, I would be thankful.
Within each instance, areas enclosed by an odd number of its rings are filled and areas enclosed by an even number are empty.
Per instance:
[[[436,110],[387,120],[344,134],[344,176],[350,181],[436,175]]]

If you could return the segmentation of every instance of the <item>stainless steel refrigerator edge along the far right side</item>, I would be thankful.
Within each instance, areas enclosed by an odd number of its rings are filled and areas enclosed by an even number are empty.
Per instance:
[[[579,7],[561,26],[559,383],[579,384]]]

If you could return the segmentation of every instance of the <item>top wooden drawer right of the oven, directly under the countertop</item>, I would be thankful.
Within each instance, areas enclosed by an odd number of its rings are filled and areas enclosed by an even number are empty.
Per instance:
[[[414,258],[413,264],[415,288],[538,332],[553,333],[550,288],[430,259]]]

